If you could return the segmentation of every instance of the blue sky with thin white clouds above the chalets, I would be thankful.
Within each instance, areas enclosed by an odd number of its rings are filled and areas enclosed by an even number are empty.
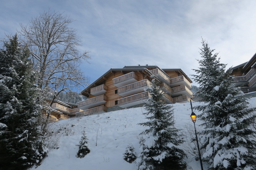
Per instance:
[[[202,39],[228,68],[249,61],[256,52],[255,0],[0,2],[0,38],[49,9],[74,19],[70,27],[81,36],[79,49],[90,52],[90,64],[81,64],[90,83],[110,68],[138,64],[180,68],[193,78]]]

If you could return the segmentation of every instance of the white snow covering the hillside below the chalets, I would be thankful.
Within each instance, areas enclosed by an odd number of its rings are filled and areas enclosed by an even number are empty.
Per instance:
[[[256,97],[251,98],[250,103],[255,106]],[[199,103],[192,104],[194,107]],[[173,106],[176,127],[183,129],[183,133],[187,131],[186,126],[193,129],[190,103],[175,103]],[[194,112],[200,114],[198,111]],[[138,134],[144,130],[138,123],[147,121],[143,113],[145,110],[140,107],[58,121],[54,130],[59,132],[55,139],[59,148],[50,149],[42,164],[31,170],[137,170],[136,164],[130,164],[123,159],[123,153],[128,144],[132,143],[138,154]],[[196,126],[199,124],[197,121]],[[91,152],[84,158],[76,158],[76,145],[79,145],[84,129]],[[187,169],[201,169],[199,161],[191,159],[188,154]],[[204,169],[207,169],[207,165],[204,165]]]

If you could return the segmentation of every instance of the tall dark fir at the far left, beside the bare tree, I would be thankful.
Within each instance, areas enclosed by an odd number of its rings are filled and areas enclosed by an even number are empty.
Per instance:
[[[40,131],[41,106],[27,48],[17,35],[0,49],[0,169],[22,170],[45,156]]]

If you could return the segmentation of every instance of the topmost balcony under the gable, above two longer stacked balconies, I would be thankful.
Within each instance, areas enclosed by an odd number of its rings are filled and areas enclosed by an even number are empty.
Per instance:
[[[113,85],[116,87],[122,87],[128,84],[132,84],[138,81],[138,76],[134,73],[128,73],[121,75],[117,78],[112,79],[113,80]]]

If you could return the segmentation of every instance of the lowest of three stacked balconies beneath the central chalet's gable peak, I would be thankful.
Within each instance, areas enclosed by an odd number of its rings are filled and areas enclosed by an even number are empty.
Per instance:
[[[135,106],[137,104],[146,103],[149,96],[149,93],[145,91],[139,94],[121,98],[117,100],[117,104],[122,108]]]

